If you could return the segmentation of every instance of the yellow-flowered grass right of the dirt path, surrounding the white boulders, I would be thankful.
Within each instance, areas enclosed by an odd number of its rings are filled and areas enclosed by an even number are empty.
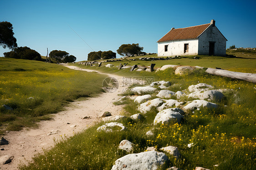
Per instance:
[[[225,61],[225,62],[223,62]],[[252,62],[253,61],[253,62]],[[150,65],[149,61],[124,61],[129,65]],[[156,67],[166,64],[198,65],[205,67],[222,67],[226,70],[241,72],[256,72],[254,59],[225,58],[200,56],[199,60],[191,58],[174,59],[167,61],[154,61]],[[221,63],[222,62],[222,63]],[[109,62],[119,65],[120,62]],[[122,62],[123,63],[123,62]],[[102,63],[108,64],[108,63]],[[75,64],[77,65],[77,64]],[[79,66],[79,65],[78,65]],[[155,80],[171,82],[168,90],[186,90],[189,85],[206,83],[216,89],[227,89],[225,97],[218,104],[217,109],[187,111],[184,123],[170,123],[167,125],[153,125],[156,108],[148,111],[143,120],[134,121],[129,118],[118,120],[127,130],[122,132],[104,133],[96,129],[103,123],[74,135],[63,141],[56,141],[56,146],[46,150],[44,154],[37,155],[34,163],[22,165],[20,169],[83,169],[83,170],[109,170],[115,160],[127,155],[118,150],[122,140],[129,140],[135,144],[133,153],[146,151],[147,147],[156,148],[168,145],[177,146],[181,157],[175,159],[168,155],[169,166],[177,166],[183,170],[193,170],[196,166],[211,170],[252,170],[256,169],[256,85],[242,80],[209,75],[204,70],[195,70],[187,75],[175,75],[173,69],[149,72],[129,72],[117,70],[116,67],[97,68],[96,66],[81,66],[87,69],[97,69],[103,72],[115,73],[123,76],[154,76]],[[128,93],[127,93],[128,94]],[[153,94],[154,97],[157,93]],[[176,99],[175,97],[173,99]],[[184,98],[182,100],[191,100]],[[126,100],[125,112],[120,115],[130,116],[139,112],[137,104]],[[152,130],[154,135],[145,133]],[[189,143],[194,146],[188,148]]]

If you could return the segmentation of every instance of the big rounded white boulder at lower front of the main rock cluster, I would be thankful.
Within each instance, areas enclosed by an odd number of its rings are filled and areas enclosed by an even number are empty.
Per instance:
[[[178,123],[184,119],[184,111],[179,108],[170,108],[160,111],[155,119],[154,125],[158,123],[169,123],[170,121],[176,121]]]

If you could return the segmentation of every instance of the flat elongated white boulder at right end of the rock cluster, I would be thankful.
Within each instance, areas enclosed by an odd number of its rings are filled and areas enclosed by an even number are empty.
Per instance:
[[[222,97],[224,96],[221,92],[217,90],[208,90],[208,91],[195,91],[193,93],[190,93],[187,95],[188,97],[193,97],[193,98],[199,98],[200,100],[221,100]]]

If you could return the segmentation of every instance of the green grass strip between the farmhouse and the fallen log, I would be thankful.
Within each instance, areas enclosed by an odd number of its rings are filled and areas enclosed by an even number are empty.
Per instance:
[[[163,65],[190,65],[190,66],[200,66],[200,67],[210,67],[215,68],[219,67],[224,70],[237,71],[243,73],[256,73],[256,54],[255,53],[244,53],[242,52],[230,52],[227,51],[228,55],[234,55],[232,57],[220,57],[220,56],[209,56],[209,55],[197,55],[197,58],[194,59],[195,56],[184,56],[185,58],[181,59],[172,59],[172,60],[155,60],[155,61],[143,61],[138,60],[140,57],[157,57],[157,55],[144,55],[144,56],[136,56],[129,57],[128,59],[136,59],[136,61],[124,59],[122,64],[128,63],[128,65],[142,65],[142,66],[150,66],[150,64],[154,63],[155,69],[160,68]],[[99,60],[99,62],[105,60]],[[104,62],[102,65],[113,64],[118,66],[119,62]],[[97,69],[97,70],[107,70],[105,68],[97,68],[97,65],[94,67],[87,66],[87,69]],[[109,70],[109,69],[108,69]],[[112,69],[113,70],[113,69]]]

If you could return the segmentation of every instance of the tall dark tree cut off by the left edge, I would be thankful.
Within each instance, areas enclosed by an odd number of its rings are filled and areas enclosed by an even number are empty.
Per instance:
[[[13,36],[13,27],[10,22],[0,22],[0,45],[5,49],[6,46],[9,49],[17,47],[16,38]]]

